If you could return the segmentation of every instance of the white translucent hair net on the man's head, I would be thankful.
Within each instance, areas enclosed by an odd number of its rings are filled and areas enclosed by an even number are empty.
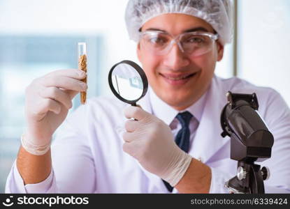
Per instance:
[[[125,15],[129,37],[138,42],[143,24],[166,13],[199,17],[217,31],[222,44],[231,42],[231,0],[129,0]]]

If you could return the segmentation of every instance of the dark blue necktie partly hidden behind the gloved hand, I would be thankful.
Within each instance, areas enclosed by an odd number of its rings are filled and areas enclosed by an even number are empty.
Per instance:
[[[181,124],[181,129],[175,137],[175,143],[182,150],[184,150],[185,153],[188,153],[189,136],[190,136],[189,122],[190,122],[190,119],[192,118],[192,115],[189,111],[184,111],[180,114],[177,114],[176,118]],[[168,189],[168,191],[172,192],[173,187],[171,187],[171,185],[168,182],[166,182],[165,180],[163,180],[163,182],[166,185],[166,188]]]

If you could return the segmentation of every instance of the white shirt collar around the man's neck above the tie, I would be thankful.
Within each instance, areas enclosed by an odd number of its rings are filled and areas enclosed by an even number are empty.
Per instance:
[[[183,111],[189,111],[197,120],[198,122],[201,121],[201,117],[203,115],[203,107],[205,107],[205,101],[206,101],[206,95],[208,91],[206,91],[197,102],[192,104],[187,109],[184,109],[182,111],[177,111],[173,109],[171,106],[166,104],[163,100],[161,100],[152,90],[152,88],[148,88],[149,96],[150,96],[150,102],[152,105],[152,114],[157,116],[157,118],[160,118],[164,123],[167,125],[170,125],[171,122],[174,120],[175,116],[179,112]]]

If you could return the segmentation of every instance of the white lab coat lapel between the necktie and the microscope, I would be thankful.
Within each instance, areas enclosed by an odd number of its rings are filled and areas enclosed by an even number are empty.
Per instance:
[[[222,146],[229,141],[229,137],[221,136],[222,127],[220,115],[226,105],[226,92],[219,78],[213,77],[206,98],[203,116],[196,130],[196,136],[192,142],[189,154],[206,163],[215,155]]]

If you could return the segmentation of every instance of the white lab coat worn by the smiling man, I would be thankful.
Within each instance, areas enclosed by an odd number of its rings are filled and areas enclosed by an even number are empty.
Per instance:
[[[220,114],[226,92],[256,93],[259,113],[273,133],[272,157],[261,163],[271,176],[265,181],[267,193],[290,192],[290,111],[279,93],[257,87],[242,79],[213,77],[205,107],[189,154],[201,159],[212,171],[210,193],[224,193],[224,183],[236,174],[231,160],[229,137],[222,138]],[[139,104],[152,113],[149,96]],[[42,183],[23,185],[15,164],[6,183],[6,192],[66,193],[167,193],[164,183],[122,150],[123,109],[117,98],[93,98],[66,119],[52,146],[53,169]],[[161,118],[162,119],[162,118]],[[173,189],[173,193],[177,193]]]

